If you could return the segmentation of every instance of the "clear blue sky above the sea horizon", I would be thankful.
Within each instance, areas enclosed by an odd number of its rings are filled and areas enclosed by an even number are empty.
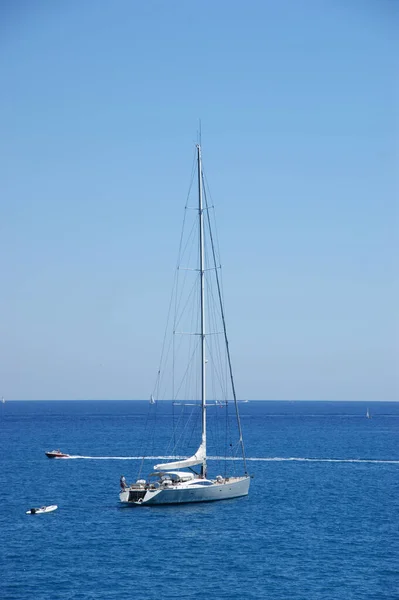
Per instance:
[[[397,400],[398,25],[3,0],[0,396],[149,397],[200,117],[239,397]]]

